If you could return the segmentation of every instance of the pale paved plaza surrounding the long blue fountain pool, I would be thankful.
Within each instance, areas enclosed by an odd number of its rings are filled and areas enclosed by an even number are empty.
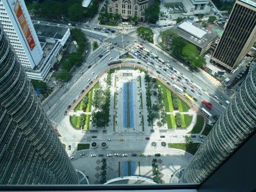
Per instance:
[[[183,150],[169,149],[167,146],[162,146],[162,142],[166,143],[185,143],[183,135],[189,133],[197,121],[197,113],[194,110],[188,112],[182,112],[181,114],[189,114],[193,116],[192,123],[186,129],[183,130],[168,130],[166,125],[158,127],[156,122],[153,125],[149,125],[147,119],[147,106],[146,106],[146,85],[145,74],[139,70],[118,70],[111,75],[112,86],[110,87],[111,99],[110,99],[110,122],[109,126],[105,129],[97,128],[90,123],[90,130],[97,129],[98,133],[85,133],[83,130],[75,130],[70,125],[71,115],[91,114],[91,112],[83,111],[69,111],[68,115],[59,124],[58,130],[62,135],[61,141],[66,145],[67,154],[74,159],[71,160],[75,169],[78,169],[83,174],[89,177],[90,184],[97,184],[101,179],[101,159],[98,154],[104,154],[104,158],[107,158],[107,179],[113,179],[117,177],[126,176],[127,173],[123,173],[125,163],[129,162],[135,165],[133,175],[152,178],[152,160],[155,158],[158,162],[159,171],[161,172],[161,178],[163,183],[169,183],[171,175],[182,167],[186,167],[193,155],[186,153]],[[99,78],[99,84],[101,87],[106,87],[107,74],[102,75]],[[141,80],[139,80],[141,79]],[[141,81],[141,83],[139,83]],[[133,99],[134,115],[134,127],[124,127],[126,125],[123,121],[127,121],[127,118],[123,118],[124,104],[123,98],[123,83],[133,83],[133,93],[130,93],[130,99]],[[89,90],[86,90],[87,92]],[[87,92],[85,91],[84,94]],[[142,99],[139,97],[142,93]],[[115,99],[114,99],[115,95]],[[154,96],[155,97],[155,96]],[[152,96],[152,102],[157,99]],[[82,97],[81,97],[82,98]],[[114,103],[115,102],[115,103]],[[141,103],[142,102],[142,103]],[[115,105],[115,107],[114,107]],[[93,107],[92,107],[92,110]],[[127,109],[126,109],[127,110]],[[167,114],[175,114],[178,111],[168,112]],[[116,122],[113,121],[115,115]],[[142,128],[142,116],[144,117],[144,130]],[[115,129],[113,125],[115,123]],[[104,132],[103,130],[106,130]],[[165,130],[163,132],[163,130]],[[95,135],[97,138],[92,138]],[[161,135],[165,135],[165,138],[161,138]],[[173,137],[177,135],[177,137]],[[145,137],[150,137],[149,140]],[[111,139],[111,141],[109,141]],[[102,148],[101,142],[105,141],[107,147]],[[78,143],[91,143],[97,142],[96,148],[77,151]],[[153,145],[154,142],[154,145]],[[68,150],[68,146],[71,149]],[[80,153],[86,152],[86,155],[80,156]],[[127,154],[127,157],[106,157],[107,154]],[[136,153],[137,157],[131,157],[132,153]],[[144,155],[151,154],[151,157],[139,157],[139,154]],[[154,157],[155,153],[161,153],[161,157]],[[96,154],[96,157],[90,157],[91,154]]]

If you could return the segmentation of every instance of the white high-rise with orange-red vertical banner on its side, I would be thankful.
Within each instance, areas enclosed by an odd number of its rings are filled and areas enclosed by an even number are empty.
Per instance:
[[[43,80],[50,67],[40,66],[43,50],[25,2],[23,0],[0,1],[0,22],[27,76]]]

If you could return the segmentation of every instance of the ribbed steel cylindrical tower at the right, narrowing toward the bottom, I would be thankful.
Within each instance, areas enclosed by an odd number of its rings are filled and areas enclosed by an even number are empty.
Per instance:
[[[256,61],[255,61],[256,62]],[[256,63],[180,179],[201,183],[256,129]]]

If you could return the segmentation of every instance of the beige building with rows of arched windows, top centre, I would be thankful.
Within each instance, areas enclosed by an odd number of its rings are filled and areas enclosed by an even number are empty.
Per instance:
[[[137,16],[140,21],[145,21],[145,10],[149,3],[150,0],[110,0],[107,12],[121,14],[123,19]]]

